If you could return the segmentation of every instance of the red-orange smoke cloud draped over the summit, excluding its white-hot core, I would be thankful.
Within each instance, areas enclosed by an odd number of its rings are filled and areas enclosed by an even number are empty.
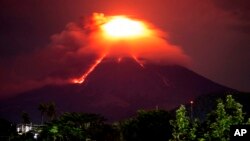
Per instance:
[[[144,63],[188,65],[190,58],[179,46],[171,45],[167,35],[146,23],[152,33],[134,40],[108,40],[100,26],[103,14],[79,23],[69,23],[65,29],[51,36],[51,43],[43,49],[18,56],[1,63],[2,95],[19,93],[48,84],[66,84],[77,78],[104,53],[108,57],[135,55]]]

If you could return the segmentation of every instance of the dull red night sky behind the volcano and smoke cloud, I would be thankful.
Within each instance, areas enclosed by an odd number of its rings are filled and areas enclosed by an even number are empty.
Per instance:
[[[37,64],[21,61],[22,56],[46,48],[52,35],[93,12],[131,15],[154,24],[190,56],[190,69],[250,91],[249,0],[0,0],[0,95],[12,89],[8,85],[23,83],[27,75],[42,79],[32,72]],[[46,63],[41,65],[46,68]]]

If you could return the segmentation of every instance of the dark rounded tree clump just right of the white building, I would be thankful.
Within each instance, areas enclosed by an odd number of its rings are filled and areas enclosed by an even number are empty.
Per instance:
[[[97,114],[64,113],[58,119],[44,126],[41,133],[46,140],[115,140],[113,128],[104,123],[105,119]],[[111,134],[111,135],[110,135]]]

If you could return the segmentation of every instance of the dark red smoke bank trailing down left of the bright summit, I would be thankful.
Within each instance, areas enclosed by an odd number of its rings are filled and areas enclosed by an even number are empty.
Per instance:
[[[68,83],[68,79],[81,75],[98,55],[94,51],[87,53],[88,42],[83,28],[69,23],[61,33],[51,36],[47,47],[19,55],[8,63],[3,61],[1,95]]]

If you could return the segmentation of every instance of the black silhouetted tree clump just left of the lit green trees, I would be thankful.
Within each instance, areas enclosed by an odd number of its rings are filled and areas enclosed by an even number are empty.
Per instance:
[[[171,137],[170,114],[164,110],[140,110],[135,118],[121,123],[125,141],[166,141]]]

